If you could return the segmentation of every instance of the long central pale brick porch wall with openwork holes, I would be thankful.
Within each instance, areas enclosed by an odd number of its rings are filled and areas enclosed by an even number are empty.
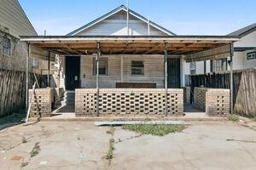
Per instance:
[[[168,115],[183,115],[183,89],[168,89]],[[76,89],[76,116],[96,116],[96,89]],[[165,89],[101,88],[99,112],[106,115],[164,115]]]

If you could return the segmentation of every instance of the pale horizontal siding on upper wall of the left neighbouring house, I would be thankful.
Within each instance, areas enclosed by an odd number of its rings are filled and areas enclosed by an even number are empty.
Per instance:
[[[17,0],[0,0],[0,26],[15,37],[37,35]]]

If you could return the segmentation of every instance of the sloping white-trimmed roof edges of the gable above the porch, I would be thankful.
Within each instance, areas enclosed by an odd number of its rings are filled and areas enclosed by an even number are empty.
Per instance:
[[[113,9],[108,14],[104,14],[100,18],[97,18],[96,20],[91,21],[90,23],[80,27],[79,29],[68,33],[67,36],[74,36],[74,35],[78,34],[79,32],[84,31],[85,29],[89,28],[90,26],[94,26],[97,23],[99,23],[100,21],[107,19],[108,17],[112,16],[113,14],[117,14],[121,10],[127,12],[127,8],[125,7],[125,5],[121,5],[121,6],[119,6],[119,8]],[[143,15],[141,15],[141,14],[137,14],[135,11],[131,10],[130,8],[129,8],[129,14],[131,14],[132,16],[136,17],[139,20],[143,20],[145,23],[148,23],[147,18],[143,17]],[[166,28],[159,26],[150,20],[149,20],[149,24],[150,24],[150,26],[154,26],[154,28],[165,32],[169,36],[176,35],[172,31],[168,31]]]

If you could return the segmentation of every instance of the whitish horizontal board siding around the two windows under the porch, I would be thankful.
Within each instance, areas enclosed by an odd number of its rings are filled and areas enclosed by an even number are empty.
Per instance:
[[[93,55],[81,56],[81,87],[96,88],[96,76],[93,75]],[[100,76],[100,88],[115,88],[121,82],[122,55],[102,55],[108,58],[108,76]],[[64,60],[61,57],[61,60]],[[131,61],[143,60],[144,76],[131,76]],[[61,62],[65,68],[65,62]],[[64,79],[64,76],[63,76]],[[157,88],[164,87],[164,57],[161,55],[123,55],[123,82],[156,83]]]

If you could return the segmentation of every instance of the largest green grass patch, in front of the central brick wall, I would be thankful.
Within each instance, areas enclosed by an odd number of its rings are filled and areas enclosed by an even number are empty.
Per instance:
[[[152,125],[152,124],[137,124],[125,125],[125,130],[135,131],[137,133],[151,134],[154,136],[164,136],[169,133],[180,133],[185,128],[184,125]]]

